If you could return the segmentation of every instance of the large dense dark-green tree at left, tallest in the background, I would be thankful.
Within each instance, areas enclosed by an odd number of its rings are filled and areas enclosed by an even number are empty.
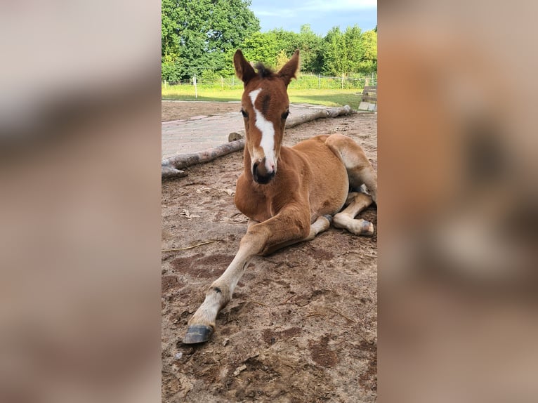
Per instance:
[[[260,30],[251,0],[162,0],[164,79],[223,70],[231,53]]]

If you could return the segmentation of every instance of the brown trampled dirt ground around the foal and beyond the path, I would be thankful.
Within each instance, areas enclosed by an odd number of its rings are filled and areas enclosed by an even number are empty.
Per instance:
[[[237,104],[164,103],[163,116],[208,110],[236,111]],[[284,145],[343,133],[377,169],[376,132],[376,114],[353,114],[291,128]],[[187,171],[162,183],[163,401],[374,402],[377,233],[357,237],[330,228],[255,258],[219,313],[213,338],[181,343],[188,319],[247,230],[233,203],[242,152]],[[376,226],[376,212],[371,206],[361,216]]]

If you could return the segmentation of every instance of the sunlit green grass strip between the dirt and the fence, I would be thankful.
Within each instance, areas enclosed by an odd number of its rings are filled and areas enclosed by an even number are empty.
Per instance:
[[[199,100],[199,101],[239,101],[243,89],[216,89],[198,87],[198,98],[195,98],[194,86],[162,86],[161,96],[163,100]],[[309,103],[313,105],[343,106],[349,105],[357,109],[360,96],[357,89],[293,89],[288,91],[291,103]]]

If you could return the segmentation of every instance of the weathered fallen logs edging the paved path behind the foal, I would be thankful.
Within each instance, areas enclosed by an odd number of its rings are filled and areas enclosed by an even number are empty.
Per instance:
[[[337,117],[343,114],[350,114],[353,110],[346,105],[344,107],[330,107],[319,110],[313,110],[313,112],[308,112],[306,114],[301,114],[297,117],[289,117],[286,122],[286,128],[291,128],[298,126],[299,124],[306,123],[308,121],[313,121],[315,119],[327,118],[327,117]],[[230,133],[231,135],[232,133]],[[230,136],[229,140],[232,138],[239,138],[244,136],[244,131],[239,131],[240,136],[235,136],[238,133],[233,133],[234,136]],[[170,157],[169,159],[164,159],[161,164],[161,177],[162,178],[181,178],[186,176],[187,173],[182,171],[182,169],[192,166],[195,164],[203,164],[205,162],[213,161],[218,157],[223,157],[230,152],[235,152],[242,150],[244,148],[244,138],[240,140],[231,140],[229,143],[219,145],[218,147],[210,148],[209,150],[204,150],[200,152],[192,152],[190,154],[181,154],[176,157]]]

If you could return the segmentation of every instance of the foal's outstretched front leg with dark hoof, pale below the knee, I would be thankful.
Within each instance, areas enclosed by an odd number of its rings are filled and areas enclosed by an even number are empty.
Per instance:
[[[239,251],[232,263],[221,277],[211,284],[204,302],[189,320],[183,343],[202,343],[209,340],[215,330],[218,311],[232,299],[235,286],[254,256],[272,252],[303,239],[310,239],[323,228],[329,227],[327,218],[318,219],[320,222],[323,220],[327,221],[326,225],[316,222],[310,227],[308,210],[287,209],[263,223],[249,225],[249,230],[242,237]]]

